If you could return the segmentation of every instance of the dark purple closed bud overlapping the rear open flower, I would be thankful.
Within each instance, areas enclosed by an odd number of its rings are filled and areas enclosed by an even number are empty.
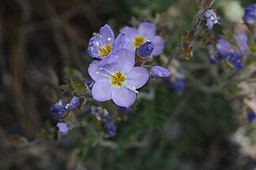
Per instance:
[[[147,40],[147,42],[143,43],[141,46],[137,48],[137,55],[140,57],[149,57],[154,50],[155,45],[152,41]]]

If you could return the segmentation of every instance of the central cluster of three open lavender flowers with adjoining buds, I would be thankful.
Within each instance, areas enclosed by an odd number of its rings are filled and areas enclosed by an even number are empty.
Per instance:
[[[128,108],[136,100],[137,89],[147,83],[149,71],[153,77],[167,77],[171,72],[160,66],[145,65],[152,61],[148,58],[164,50],[164,40],[156,35],[154,24],[143,22],[138,29],[126,26],[120,32],[115,39],[111,28],[105,25],[99,35],[90,39],[88,54],[101,60],[92,61],[88,74],[95,81],[92,97],[96,101],[112,99],[116,105]],[[135,61],[141,66],[134,66]]]

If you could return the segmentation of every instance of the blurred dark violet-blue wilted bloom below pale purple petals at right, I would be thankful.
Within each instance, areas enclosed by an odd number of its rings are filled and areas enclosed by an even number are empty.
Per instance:
[[[229,51],[226,57],[226,62],[235,70],[243,68],[243,62],[241,60],[239,51]]]

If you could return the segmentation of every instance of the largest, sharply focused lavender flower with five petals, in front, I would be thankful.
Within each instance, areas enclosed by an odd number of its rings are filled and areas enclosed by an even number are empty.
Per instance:
[[[116,105],[129,107],[135,102],[137,88],[143,87],[149,79],[149,72],[134,67],[134,53],[122,49],[118,53],[117,65],[100,67],[100,61],[92,61],[88,73],[96,82],[92,97],[99,102],[113,99]]]

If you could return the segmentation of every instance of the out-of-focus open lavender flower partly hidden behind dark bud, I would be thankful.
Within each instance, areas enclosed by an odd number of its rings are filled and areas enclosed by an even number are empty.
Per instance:
[[[147,40],[155,45],[150,57],[159,55],[164,50],[164,40],[156,35],[156,26],[150,22],[142,22],[137,29],[126,26],[120,32],[126,35],[126,43],[123,47],[127,50],[134,51]]]

